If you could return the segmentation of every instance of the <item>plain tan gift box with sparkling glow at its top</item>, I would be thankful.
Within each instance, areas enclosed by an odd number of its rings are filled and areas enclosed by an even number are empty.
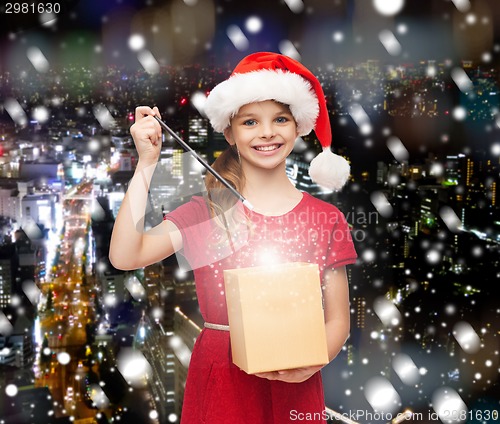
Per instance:
[[[248,374],[328,363],[317,264],[224,271],[233,363]]]

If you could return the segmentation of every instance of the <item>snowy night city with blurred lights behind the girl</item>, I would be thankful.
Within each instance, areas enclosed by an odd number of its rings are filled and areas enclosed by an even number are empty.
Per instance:
[[[0,6],[0,424],[180,421],[203,325],[192,273],[108,260],[128,129],[157,105],[212,162],[226,142],[205,96],[259,50],[318,76],[351,163],[330,193],[307,174],[313,133],[287,162],[344,212],[359,255],[351,335],[322,371],[331,421],[500,422],[496,0],[25,4]],[[203,191],[164,137],[146,226]]]

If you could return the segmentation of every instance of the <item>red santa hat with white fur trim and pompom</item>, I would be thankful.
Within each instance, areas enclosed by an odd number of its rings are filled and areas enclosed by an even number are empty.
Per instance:
[[[224,132],[240,107],[264,100],[288,105],[300,136],[314,129],[323,151],[311,161],[309,175],[323,187],[340,190],[349,178],[349,163],[330,149],[332,130],[320,82],[296,60],[268,52],[245,57],[210,92],[204,111],[214,130]]]

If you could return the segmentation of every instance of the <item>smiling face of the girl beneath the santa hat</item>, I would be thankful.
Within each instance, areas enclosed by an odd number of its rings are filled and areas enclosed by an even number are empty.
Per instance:
[[[284,164],[298,133],[290,109],[266,100],[242,106],[224,135],[236,144],[242,166],[273,169]]]

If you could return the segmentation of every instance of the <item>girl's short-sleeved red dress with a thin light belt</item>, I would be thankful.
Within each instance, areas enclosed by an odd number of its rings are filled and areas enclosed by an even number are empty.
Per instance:
[[[182,233],[182,254],[194,270],[203,319],[228,324],[223,269],[272,262],[317,263],[327,268],[356,260],[344,215],[303,193],[288,213],[264,216],[245,210],[248,231],[231,234],[210,221],[205,200],[192,200],[165,219]],[[251,223],[248,225],[248,223]],[[204,329],[196,340],[186,382],[181,423],[282,424],[326,422],[321,373],[303,383],[270,381],[233,365],[228,331]]]

